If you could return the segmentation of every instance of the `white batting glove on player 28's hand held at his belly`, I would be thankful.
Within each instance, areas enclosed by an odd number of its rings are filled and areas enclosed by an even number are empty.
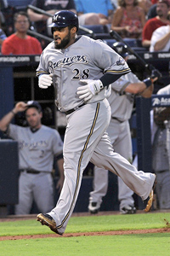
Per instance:
[[[83,99],[86,102],[104,88],[100,80],[81,79],[79,84],[84,85],[77,88],[77,94],[80,95],[79,99]]]

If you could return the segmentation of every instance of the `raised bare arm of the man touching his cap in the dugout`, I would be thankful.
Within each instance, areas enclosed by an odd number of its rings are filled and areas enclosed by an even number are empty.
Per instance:
[[[18,112],[25,111],[27,104],[25,102],[18,102],[15,107],[6,115],[3,116],[3,119],[0,120],[0,130],[7,131],[8,125],[11,120],[14,118],[14,115]]]

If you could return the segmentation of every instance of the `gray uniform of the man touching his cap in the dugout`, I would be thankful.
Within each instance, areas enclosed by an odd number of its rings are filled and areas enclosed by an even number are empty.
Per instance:
[[[15,214],[29,214],[32,202],[42,212],[54,207],[54,181],[51,175],[54,155],[62,153],[63,142],[59,132],[45,125],[32,132],[30,127],[9,125],[8,136],[19,144],[19,204],[15,206]],[[28,169],[38,174],[27,173]]]

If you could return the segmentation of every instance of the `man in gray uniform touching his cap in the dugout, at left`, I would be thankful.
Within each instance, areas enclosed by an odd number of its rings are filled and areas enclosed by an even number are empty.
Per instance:
[[[29,126],[9,124],[14,115],[26,110]],[[59,166],[59,186],[64,181],[63,142],[59,132],[41,124],[42,108],[38,102],[18,102],[14,109],[0,120],[1,131],[19,144],[19,204],[15,214],[29,214],[33,200],[42,212],[54,207],[52,170],[54,156]]]

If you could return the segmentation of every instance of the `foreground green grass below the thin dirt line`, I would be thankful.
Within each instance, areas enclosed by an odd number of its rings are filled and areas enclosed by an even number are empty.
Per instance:
[[[2,256],[169,256],[169,233],[1,241]]]

